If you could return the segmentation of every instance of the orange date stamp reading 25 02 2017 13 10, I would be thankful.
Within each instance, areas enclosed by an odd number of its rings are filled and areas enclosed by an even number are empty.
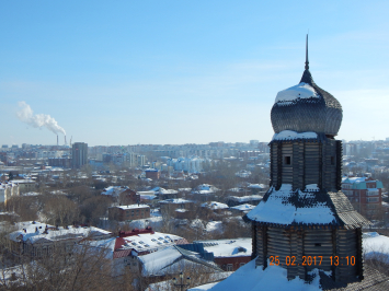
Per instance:
[[[297,263],[296,256],[286,256],[285,261],[279,260],[279,256],[270,256],[270,266],[320,266],[324,256],[302,256],[300,263]],[[354,266],[355,256],[329,256],[331,266]]]

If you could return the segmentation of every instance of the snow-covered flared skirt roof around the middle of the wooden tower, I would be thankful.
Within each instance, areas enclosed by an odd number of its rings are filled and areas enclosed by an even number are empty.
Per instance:
[[[293,190],[290,184],[283,184],[279,190],[272,187],[245,218],[279,226],[333,224],[355,229],[370,224],[344,194],[321,190],[316,184],[307,185],[305,190]]]

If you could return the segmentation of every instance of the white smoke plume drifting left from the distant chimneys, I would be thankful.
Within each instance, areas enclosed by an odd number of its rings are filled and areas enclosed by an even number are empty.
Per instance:
[[[16,112],[18,118],[33,127],[46,127],[48,130],[58,135],[59,132],[66,135],[65,129],[61,128],[56,119],[47,114],[35,114],[33,109],[24,101],[18,102],[20,109]]]

